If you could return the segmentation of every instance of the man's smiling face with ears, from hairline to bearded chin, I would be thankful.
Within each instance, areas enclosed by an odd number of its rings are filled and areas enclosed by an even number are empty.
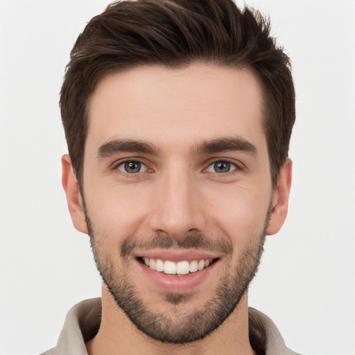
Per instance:
[[[246,69],[191,64],[111,74],[89,101],[84,209],[64,158],[69,209],[107,293],[152,338],[218,328],[284,221],[261,97]]]

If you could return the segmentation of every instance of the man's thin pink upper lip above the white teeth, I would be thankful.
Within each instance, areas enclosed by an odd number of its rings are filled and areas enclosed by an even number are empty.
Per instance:
[[[204,250],[171,250],[171,249],[155,249],[142,252],[134,252],[135,258],[162,259],[174,262],[193,261],[201,259],[217,259],[220,253],[208,252]]]

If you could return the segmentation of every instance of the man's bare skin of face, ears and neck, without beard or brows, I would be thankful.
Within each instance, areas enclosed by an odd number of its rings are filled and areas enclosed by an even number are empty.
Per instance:
[[[176,314],[203,310],[220,280],[238,268],[243,250],[259,243],[264,227],[266,234],[277,233],[287,214],[292,164],[286,159],[272,189],[257,78],[248,69],[203,63],[180,69],[138,67],[103,78],[88,107],[83,194],[101,252],[116,272],[127,273],[151,312],[175,322]],[[254,151],[196,149],[211,139],[226,138],[247,141]],[[100,154],[100,147],[122,139],[144,141],[157,151]],[[143,170],[126,173],[124,159],[143,163]],[[217,173],[214,163],[220,161],[232,163],[231,170]],[[62,166],[73,225],[87,234],[83,199],[68,155],[62,157]],[[157,234],[178,245],[192,232],[229,243],[232,254],[220,252],[208,276],[184,292],[187,302],[172,306],[166,292],[141,272],[135,257],[146,250],[123,259],[120,248],[132,236],[147,241]],[[101,328],[87,343],[89,354],[141,354],[141,349],[145,354],[234,354],[236,349],[253,354],[248,291],[222,326],[184,345],[149,338],[116,305],[105,284],[102,293]]]

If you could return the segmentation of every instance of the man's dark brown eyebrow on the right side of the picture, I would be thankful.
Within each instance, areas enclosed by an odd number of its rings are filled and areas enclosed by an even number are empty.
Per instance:
[[[203,141],[193,148],[195,154],[211,154],[227,151],[241,151],[257,155],[257,148],[241,137],[225,137]]]

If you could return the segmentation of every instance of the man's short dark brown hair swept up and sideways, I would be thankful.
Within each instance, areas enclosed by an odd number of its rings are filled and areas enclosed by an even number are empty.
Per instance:
[[[87,101],[108,73],[146,64],[191,62],[249,68],[263,89],[272,185],[288,156],[295,121],[291,64],[270,37],[270,22],[232,0],[124,0],[94,17],[71,51],[60,109],[78,182],[83,178]]]

